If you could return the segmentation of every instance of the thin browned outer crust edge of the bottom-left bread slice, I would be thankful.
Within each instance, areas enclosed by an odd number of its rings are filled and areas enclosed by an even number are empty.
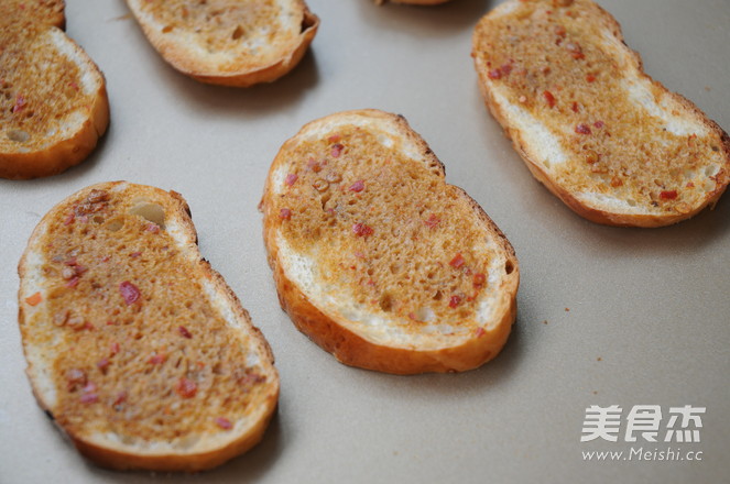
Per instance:
[[[68,199],[81,198],[92,189],[109,190],[115,186],[124,183],[126,182],[100,183],[83,188],[77,193],[70,195],[69,197],[65,198],[59,204],[57,204],[39,222],[33,233],[31,234],[31,238],[29,239],[28,246],[23,252],[23,255],[21,256],[21,260],[18,265],[18,274],[21,280],[21,286],[19,289],[18,319],[21,332],[24,332],[26,330],[23,301],[28,296],[30,296],[30,294],[26,294],[23,287],[23,282],[25,280],[25,275],[28,272],[26,258],[29,256],[29,253],[32,251],[36,239],[43,235],[47,220],[57,217],[56,213],[57,209],[61,208],[63,205],[65,205]],[[280,393],[279,372],[274,366],[274,355],[273,352],[271,351],[271,346],[269,345],[268,341],[261,333],[261,330],[258,327],[253,326],[248,311],[243,308],[238,296],[236,296],[232,289],[228,286],[224,277],[217,271],[215,271],[198,252],[197,232],[195,230],[195,226],[193,224],[193,220],[190,218],[190,210],[185,199],[175,191],[165,193],[160,188],[150,187],[150,186],[144,186],[144,188],[162,193],[165,195],[170,195],[174,199],[175,212],[170,213],[168,217],[174,218],[181,224],[184,237],[189,241],[188,245],[192,246],[190,249],[194,248],[194,250],[196,251],[195,255],[199,261],[200,270],[203,271],[204,277],[208,277],[216,286],[217,292],[225,296],[228,304],[230,305],[230,308],[233,310],[236,318],[242,321],[247,321],[249,323],[249,327],[251,329],[251,341],[257,344],[259,353],[262,355],[262,358],[268,360],[265,363],[268,363],[269,366],[271,366],[272,375],[275,377],[274,382],[266,383],[268,385],[273,385],[272,388],[274,389],[274,392],[268,395],[265,399],[265,406],[263,408],[260,408],[258,411],[257,424],[253,427],[251,427],[251,429],[248,432],[237,436],[236,439],[228,442],[225,447],[199,453],[177,453],[177,454],[176,453],[167,453],[167,454],[130,453],[118,449],[112,449],[110,447],[98,444],[94,442],[91,439],[74,435],[72,432],[68,432],[63,427],[61,426],[58,427],[66,436],[68,436],[68,438],[74,443],[74,446],[78,449],[78,451],[83,455],[94,461],[98,465],[105,468],[115,469],[115,470],[143,469],[143,470],[154,470],[154,471],[164,471],[164,472],[205,471],[208,469],[213,469],[217,465],[220,465],[224,462],[242,454],[243,452],[248,451],[249,449],[251,449],[261,441],[277,407],[279,393]],[[24,354],[26,353],[25,344],[23,344],[23,353]],[[28,362],[28,367],[25,370],[25,373],[28,374],[29,381],[31,383],[31,389],[33,392],[33,395],[35,396],[36,402],[39,403],[39,406],[53,418],[53,408],[51,407],[51,405],[48,405],[47,402],[45,402],[43,393],[36,388],[33,362],[31,360],[28,360],[28,358],[26,362]]]

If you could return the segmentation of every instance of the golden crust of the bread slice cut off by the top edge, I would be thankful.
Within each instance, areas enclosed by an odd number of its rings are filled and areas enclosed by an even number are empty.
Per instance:
[[[302,32],[296,44],[292,45],[287,52],[282,52],[282,55],[272,64],[261,65],[252,57],[247,62],[241,62],[240,65],[226,66],[226,68],[217,66],[213,61],[200,62],[194,58],[190,55],[189,45],[164,37],[164,34],[143,20],[142,13],[138,11],[134,2],[128,0],[128,4],[148,40],[175,69],[206,84],[250,87],[261,82],[272,82],[291,72],[302,61],[317,34],[319,18],[309,11],[304,0],[295,1],[303,12]]]

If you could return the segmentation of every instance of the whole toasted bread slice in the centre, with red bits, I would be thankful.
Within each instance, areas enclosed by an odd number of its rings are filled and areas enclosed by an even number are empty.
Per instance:
[[[274,160],[264,241],[283,309],[340,362],[395,374],[494,358],[516,312],[504,234],[404,118],[306,124]]]

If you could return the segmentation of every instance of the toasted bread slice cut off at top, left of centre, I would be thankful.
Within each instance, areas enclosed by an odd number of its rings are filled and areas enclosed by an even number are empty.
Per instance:
[[[127,0],[154,48],[199,81],[249,87],[292,70],[319,19],[303,0]]]

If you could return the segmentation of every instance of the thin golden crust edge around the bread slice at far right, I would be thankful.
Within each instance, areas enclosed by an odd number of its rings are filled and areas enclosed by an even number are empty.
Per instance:
[[[722,143],[721,148],[726,154],[726,165],[723,168],[720,169],[720,172],[718,172],[713,176],[713,178],[716,179],[716,188],[715,190],[707,194],[707,196],[705,197],[705,201],[702,204],[700,204],[698,207],[695,207],[691,211],[687,213],[678,213],[678,212],[666,213],[666,215],[617,213],[617,212],[611,212],[589,207],[584,202],[581,202],[580,200],[578,200],[574,196],[574,194],[571,194],[569,190],[556,184],[551,178],[551,176],[545,172],[542,164],[537,162],[537,160],[540,158],[538,156],[540,154],[536,153],[534,150],[537,150],[538,147],[533,147],[529,143],[526,143],[523,140],[520,130],[513,130],[510,128],[510,123],[508,122],[509,119],[508,116],[502,111],[492,91],[489,89],[488,69],[482,68],[482,66],[480,66],[478,61],[478,53],[477,53],[478,43],[479,43],[478,38],[479,25],[478,25],[477,29],[475,29],[472,35],[471,56],[475,62],[475,68],[479,76],[479,82],[478,82],[479,90],[482,95],[482,98],[484,99],[487,108],[494,117],[497,122],[499,122],[499,124],[503,128],[504,134],[506,135],[508,139],[512,141],[514,150],[517,152],[520,157],[525,162],[532,175],[540,183],[542,183],[553,195],[555,195],[560,200],[563,200],[563,202],[567,205],[573,211],[584,217],[585,219],[590,220],[591,222],[601,223],[606,226],[615,226],[615,227],[658,228],[658,227],[665,227],[678,223],[683,220],[687,220],[696,216],[700,211],[702,211],[708,206],[710,208],[713,208],[715,205],[720,199],[720,197],[722,196],[722,194],[724,193],[724,190],[727,189],[728,184],[730,183],[730,136],[728,136],[728,133],[724,132],[715,121],[708,119],[705,116],[705,113],[699,108],[697,108],[697,106],[694,102],[691,102],[690,100],[688,100],[687,98],[685,98],[679,94],[671,91],[662,82],[654,80],[651,76],[649,76],[644,72],[641,55],[627,45],[619,22],[615,20],[613,15],[611,15],[611,13],[609,13],[598,4],[596,6],[600,10],[601,14],[604,15],[601,20],[608,22],[608,26],[611,29],[613,35],[615,35],[617,40],[624,45],[624,47],[627,48],[627,54],[631,59],[634,61],[639,75],[642,78],[649,80],[657,89],[661,89],[662,92],[668,95],[675,101],[680,103],[683,107],[695,113],[709,131],[716,132],[720,136]],[[490,15],[495,15],[499,13],[500,13],[499,10],[492,10],[490,13],[484,15],[479,21],[479,24],[487,21],[490,18]]]

